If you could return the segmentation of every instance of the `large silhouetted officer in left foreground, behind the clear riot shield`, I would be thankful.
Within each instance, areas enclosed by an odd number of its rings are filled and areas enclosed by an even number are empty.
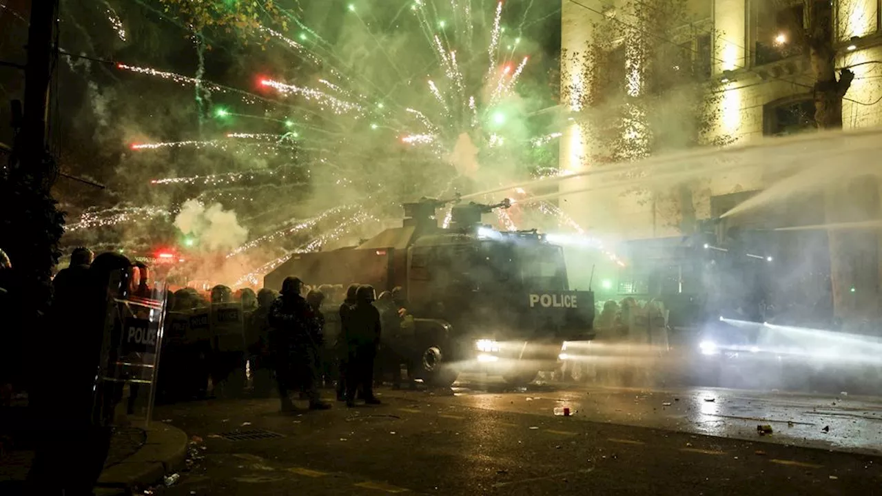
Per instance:
[[[34,378],[30,396],[44,436],[28,474],[35,493],[92,494],[101,475],[122,383],[96,382],[96,376],[117,361],[123,322],[111,298],[126,297],[134,289],[132,268],[122,255],[102,253],[88,269],[86,290],[56,298],[50,310],[41,341],[44,363],[36,369],[42,373]],[[121,286],[108,286],[113,274],[119,274]],[[71,311],[75,313],[67,313]],[[108,324],[111,346],[108,356],[101,357]],[[64,373],[57,373],[59,367]]]

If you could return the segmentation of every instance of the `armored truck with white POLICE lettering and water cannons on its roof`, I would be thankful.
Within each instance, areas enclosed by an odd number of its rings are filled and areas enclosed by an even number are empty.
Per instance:
[[[400,306],[414,319],[384,329],[383,345],[408,357],[408,372],[431,385],[449,386],[461,371],[525,384],[554,370],[565,341],[592,337],[594,294],[569,288],[561,247],[535,229],[482,225],[482,214],[510,207],[508,200],[457,202],[448,228],[436,218],[444,203],[405,204],[402,227],[358,246],[297,254],[267,274],[264,286],[279,289],[297,275],[311,286],[357,282],[377,293],[400,287],[406,297]],[[333,322],[325,330],[329,342],[337,332]]]

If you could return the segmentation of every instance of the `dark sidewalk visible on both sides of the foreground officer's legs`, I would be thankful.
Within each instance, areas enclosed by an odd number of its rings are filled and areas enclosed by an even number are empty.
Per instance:
[[[166,474],[183,468],[187,434],[153,422],[148,430],[139,426],[116,427],[96,494],[123,494],[127,488],[161,483]],[[27,447],[0,454],[0,494],[19,494],[30,470],[34,451]]]

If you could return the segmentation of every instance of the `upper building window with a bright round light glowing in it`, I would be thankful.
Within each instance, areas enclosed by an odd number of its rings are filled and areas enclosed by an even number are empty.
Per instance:
[[[805,34],[804,2],[752,2],[754,62],[770,64],[802,52]]]

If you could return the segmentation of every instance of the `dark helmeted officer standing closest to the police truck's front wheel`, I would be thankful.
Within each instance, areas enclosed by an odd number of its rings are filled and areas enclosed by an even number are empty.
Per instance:
[[[373,393],[374,359],[380,342],[380,314],[373,305],[374,288],[361,286],[355,292],[355,305],[342,320],[347,347],[346,404],[355,406],[355,392],[362,388],[364,402],[378,404]]]

